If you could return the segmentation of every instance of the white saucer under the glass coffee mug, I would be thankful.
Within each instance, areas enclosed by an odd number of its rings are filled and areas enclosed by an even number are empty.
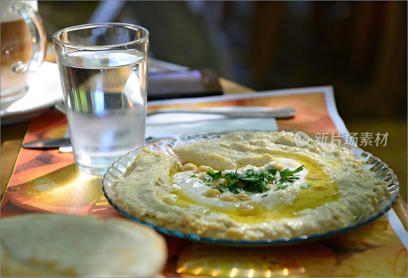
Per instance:
[[[1,123],[10,124],[39,115],[56,102],[62,102],[62,88],[58,66],[44,62],[30,74],[29,90],[15,103],[0,111]]]

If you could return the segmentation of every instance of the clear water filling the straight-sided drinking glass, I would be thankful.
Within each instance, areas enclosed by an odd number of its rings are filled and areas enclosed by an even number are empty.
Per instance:
[[[74,51],[59,61],[77,166],[104,174],[144,144],[146,57],[137,50]]]

